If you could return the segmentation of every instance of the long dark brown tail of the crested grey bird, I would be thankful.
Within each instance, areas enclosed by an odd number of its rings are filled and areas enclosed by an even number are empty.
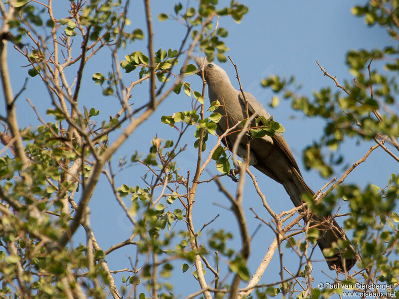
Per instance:
[[[314,195],[314,192],[305,183],[302,175],[296,170],[294,170],[294,172],[294,175],[289,181],[283,182],[283,186],[292,202],[298,207],[303,203],[302,194],[310,193]],[[337,269],[348,272],[353,266],[355,266],[356,251],[342,228],[331,215],[320,217],[313,214],[310,219],[310,226],[316,226],[320,230],[318,245],[331,270]],[[327,252],[323,252],[323,249],[335,247],[333,246],[333,243],[337,243],[339,240],[345,240],[345,244],[347,244],[346,250],[342,250],[333,256]]]

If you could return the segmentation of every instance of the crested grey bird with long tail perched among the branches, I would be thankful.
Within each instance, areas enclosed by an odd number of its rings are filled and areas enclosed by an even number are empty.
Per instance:
[[[220,136],[228,128],[237,122],[246,119],[245,101],[240,91],[236,90],[230,82],[226,72],[214,62],[207,62],[205,58],[193,58],[199,69],[197,74],[201,76],[201,68],[208,86],[209,101],[218,100],[220,106],[215,112],[222,116],[217,123],[216,133]],[[248,92],[244,92],[248,101],[249,117],[257,114],[259,117],[269,119],[270,114],[263,106]],[[252,126],[252,124],[251,124]],[[255,124],[253,124],[255,126]],[[228,134],[223,143],[232,150],[238,133]],[[247,155],[245,135],[238,146],[237,154],[241,158]],[[315,193],[305,183],[294,155],[281,134],[273,137],[264,136],[250,140],[250,164],[267,176],[282,184],[296,207],[303,204],[302,194]],[[325,256],[327,264],[331,270],[349,271],[356,264],[356,252],[349,242],[342,228],[332,218],[332,216],[319,217],[311,214],[310,225],[317,225],[319,229],[318,245],[323,253],[323,249],[333,247],[333,242],[346,240],[348,248],[345,253],[339,252],[334,256]],[[323,253],[324,255],[324,253]]]

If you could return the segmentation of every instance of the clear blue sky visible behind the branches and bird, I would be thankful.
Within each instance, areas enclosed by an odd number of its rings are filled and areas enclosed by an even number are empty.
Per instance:
[[[284,137],[302,169],[305,181],[313,190],[318,190],[328,180],[321,178],[315,171],[304,170],[301,152],[321,135],[323,122],[318,119],[305,118],[300,113],[294,112],[290,108],[290,103],[284,100],[280,101],[280,105],[277,108],[269,108],[268,103],[273,95],[269,90],[265,90],[260,86],[260,81],[269,75],[287,77],[294,75],[296,81],[303,84],[301,92],[306,95],[311,95],[312,91],[318,90],[322,86],[334,88],[335,84],[320,72],[316,60],[330,74],[337,76],[340,82],[343,83],[345,79],[353,79],[345,66],[345,54],[348,50],[360,48],[372,49],[392,43],[385,30],[377,26],[372,28],[367,27],[363,19],[356,18],[351,14],[350,9],[352,6],[364,2],[360,0],[248,1],[246,5],[249,7],[249,12],[239,24],[227,17],[221,17],[219,20],[219,26],[228,30],[225,43],[230,50],[226,54],[230,55],[234,63],[238,66],[243,89],[252,93],[268,109],[269,113],[274,115],[274,119],[283,124],[286,129]],[[196,6],[195,1],[189,1],[189,3]],[[60,6],[63,4],[57,3]],[[161,46],[165,49],[178,48],[184,36],[185,28],[180,23],[173,20],[161,23],[157,20],[156,16],[158,13],[173,12],[173,5],[172,1],[153,1],[152,3],[155,49]],[[142,2],[132,2],[131,6],[129,12],[129,18],[132,22],[130,25],[131,30],[140,27],[146,33]],[[55,13],[58,14],[56,17],[66,16],[62,10],[60,11],[58,12],[57,7],[55,8]],[[135,50],[147,53],[146,41],[137,41],[128,45],[126,50],[119,52],[120,59],[122,60],[124,55]],[[23,83],[20,81],[20,78],[27,76],[27,69],[18,67],[24,64],[26,63],[20,54],[10,49],[9,67],[14,92]],[[110,64],[110,51],[105,49],[102,54],[96,55],[88,63],[84,71],[84,84],[79,100],[80,107],[86,106],[89,109],[96,107],[99,109],[99,123],[109,115],[115,115],[118,111],[116,108],[117,100],[112,97],[102,96],[99,86],[96,86],[91,80],[92,75],[96,72],[106,73],[110,69]],[[226,70],[233,85],[238,89],[235,71],[231,63],[228,62],[220,65]],[[73,80],[73,76],[73,72],[68,74],[70,82]],[[124,75],[125,83],[131,80],[134,81],[137,78],[138,73],[135,72]],[[188,77],[186,81],[191,83],[192,88],[195,90],[200,90],[201,80],[199,77]],[[26,104],[24,98],[29,97],[37,106],[42,116],[44,116],[45,110],[50,108],[48,94],[43,87],[38,76],[29,79],[27,91],[22,94],[16,103],[18,122],[21,127],[37,125],[36,117],[31,108]],[[133,89],[132,101],[137,106],[148,101],[147,83]],[[0,109],[4,111],[3,103],[1,103]],[[171,95],[160,105],[156,113],[141,125],[121,149],[116,152],[114,155],[115,168],[119,156],[130,156],[134,149],[138,149],[141,152],[148,152],[151,140],[156,135],[164,140],[176,139],[176,131],[167,125],[161,124],[161,116],[172,115],[174,112],[190,109],[191,99],[184,93]],[[45,119],[48,121],[51,120],[51,118]],[[178,159],[178,165],[182,168],[181,173],[186,173],[187,170],[191,170],[194,173],[197,156],[197,150],[193,148],[194,141],[194,128],[192,128],[188,130],[182,142],[182,145],[187,143],[188,146],[187,150]],[[215,142],[216,138],[209,138],[205,154],[208,152],[208,149],[212,148]],[[345,162],[352,164],[361,158],[370,146],[371,144],[358,146],[354,140],[347,140],[345,145],[339,150],[344,154]],[[207,171],[212,174],[217,173],[213,162],[209,164]],[[392,163],[392,158],[382,149],[377,149],[370,155],[366,163],[361,164],[348,176],[347,182],[353,182],[360,186],[373,182],[383,187],[387,184],[391,173],[395,173],[396,171],[397,166]],[[281,185],[265,177],[255,169],[252,172],[256,175],[258,183],[266,195],[266,199],[276,212],[292,208],[292,203]],[[341,176],[342,173],[342,169],[338,169],[334,175]],[[139,166],[131,167],[117,176],[117,185],[125,183],[132,186],[144,186],[140,178],[143,174],[143,168]],[[203,178],[208,177],[209,174],[205,171]],[[221,181],[231,192],[235,191],[236,184],[229,178],[222,178]],[[229,244],[229,246],[235,247],[234,243],[239,242],[236,221],[230,211],[215,205],[215,202],[229,206],[226,198],[217,192],[217,188],[213,183],[200,185],[194,209],[196,228],[200,229],[203,223],[210,221],[214,216],[220,214],[212,224],[212,228],[223,228],[226,231],[236,234],[237,238]],[[128,198],[126,198],[126,204],[129,204]],[[173,206],[172,209],[181,208],[177,202],[175,205],[176,207]],[[244,210],[248,221],[249,233],[252,234],[258,226],[259,221],[253,219],[253,215],[249,211],[250,207],[259,211],[260,215],[266,220],[270,220],[270,216],[262,209],[261,201],[247,178]],[[104,250],[112,244],[121,242],[130,236],[130,222],[125,219],[126,217],[112,196],[104,177],[93,194],[90,209],[93,231],[99,245]],[[343,203],[342,210],[346,210],[345,203]],[[180,228],[184,229],[184,227]],[[180,228],[177,226],[175,229],[179,230]],[[205,238],[206,233],[204,232],[200,240],[204,241],[206,240]],[[273,238],[273,232],[264,225],[255,234],[251,243],[252,254],[248,261],[251,275],[273,241]],[[75,245],[77,245],[79,240],[78,233],[74,241],[76,242]],[[316,259],[322,259],[319,250],[316,250],[315,254],[318,257]],[[297,259],[295,258],[293,265],[290,263],[294,255],[291,250],[284,250],[284,262],[291,267],[291,270],[296,271]],[[112,270],[129,267],[130,264],[127,256],[135,256],[134,246],[125,247],[122,250],[111,253],[107,257],[109,267]],[[226,264],[224,263],[222,267],[226,267]],[[184,297],[199,290],[198,283],[192,275],[188,272],[182,274],[179,268],[180,264],[176,266],[177,271],[174,272],[174,276],[171,279],[171,282],[179,282],[179,284],[175,284],[178,290],[177,294],[180,293]],[[317,277],[315,286],[318,281],[325,282],[328,280],[321,273],[321,270],[335,276],[335,273],[327,269],[325,262],[315,263],[314,269],[314,275]],[[261,282],[278,281],[278,271],[278,256],[275,255]],[[121,275],[116,277],[120,279]],[[210,281],[211,276],[207,275],[206,279]],[[228,278],[228,281],[230,280],[231,277]],[[117,280],[116,283],[117,285],[121,284],[120,280]]]

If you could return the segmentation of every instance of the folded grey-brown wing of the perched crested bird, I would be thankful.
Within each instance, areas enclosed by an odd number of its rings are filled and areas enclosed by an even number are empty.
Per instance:
[[[265,119],[270,118],[270,114],[266,111],[266,109],[263,108],[263,106],[255,99],[255,97],[253,95],[251,95],[248,92],[244,92],[244,94],[245,94],[245,98],[248,101],[249,117],[252,114],[256,113],[259,116],[265,117]],[[245,111],[245,101],[244,101],[244,98],[242,97],[241,93],[239,94],[238,98],[239,98],[239,102],[240,102],[242,110]],[[276,133],[272,137],[272,140],[273,140],[273,143],[284,152],[284,154],[287,156],[288,160],[292,163],[292,165],[299,172],[299,174],[301,174],[298,164],[294,158],[294,155],[292,154],[291,149],[288,147],[288,144],[285,141],[284,137],[280,133]]]

